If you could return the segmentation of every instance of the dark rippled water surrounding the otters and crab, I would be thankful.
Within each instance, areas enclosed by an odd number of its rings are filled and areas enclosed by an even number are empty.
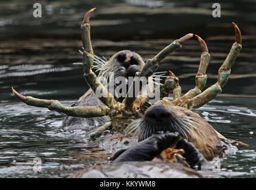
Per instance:
[[[32,17],[33,1],[0,2],[0,176],[66,177],[85,166],[107,161],[110,154],[84,143],[82,131],[59,129],[64,115],[26,106],[11,94],[58,99],[71,105],[88,86],[82,77],[79,24],[84,13],[98,8],[91,20],[94,51],[106,58],[122,49],[151,58],[172,40],[197,33],[209,47],[208,86],[234,42],[231,21],[243,34],[243,49],[217,99],[198,109],[217,131],[237,145],[221,162],[226,177],[255,177],[255,7],[254,1],[224,1],[221,18],[211,17],[210,1],[42,1],[42,18]],[[195,39],[168,56],[159,71],[171,69],[185,93],[195,85],[201,50]],[[33,171],[33,159],[42,171]]]

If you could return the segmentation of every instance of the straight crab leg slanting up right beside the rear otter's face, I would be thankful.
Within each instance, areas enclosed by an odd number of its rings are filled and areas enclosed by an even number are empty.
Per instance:
[[[193,34],[186,34],[185,36],[181,37],[180,39],[174,40],[170,45],[166,46],[161,52],[159,52],[156,56],[154,56],[152,59],[148,59],[146,64],[144,65],[142,71],[139,73],[136,73],[136,76],[134,77],[134,81],[132,85],[129,87],[127,96],[125,97],[125,108],[128,110],[132,110],[132,103],[134,103],[136,97],[138,96],[139,91],[135,91],[135,96],[129,97],[129,94],[132,94],[134,91],[134,84],[138,83],[140,80],[140,77],[150,77],[154,72],[156,72],[156,69],[158,69],[159,63],[164,59],[166,56],[169,55],[169,53],[174,52],[175,50],[179,49],[184,42],[189,40],[193,37]]]

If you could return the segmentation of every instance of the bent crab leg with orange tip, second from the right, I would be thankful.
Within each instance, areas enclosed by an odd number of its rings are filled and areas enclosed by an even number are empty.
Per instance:
[[[180,106],[183,102],[185,102],[188,99],[192,99],[193,97],[197,96],[198,94],[202,93],[203,87],[205,87],[207,75],[206,75],[206,69],[209,65],[210,60],[210,54],[208,52],[208,47],[203,39],[199,37],[198,35],[195,35],[198,39],[201,47],[202,47],[202,53],[201,53],[201,61],[198,69],[198,73],[196,74],[196,86],[195,88],[189,90],[186,94],[181,96],[179,99],[174,99],[174,105]]]

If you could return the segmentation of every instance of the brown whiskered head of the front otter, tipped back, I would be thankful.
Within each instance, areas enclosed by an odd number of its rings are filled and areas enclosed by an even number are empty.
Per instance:
[[[223,156],[226,144],[198,113],[179,106],[154,105],[147,109],[138,128],[138,141],[153,134],[178,132],[195,144],[207,160]]]

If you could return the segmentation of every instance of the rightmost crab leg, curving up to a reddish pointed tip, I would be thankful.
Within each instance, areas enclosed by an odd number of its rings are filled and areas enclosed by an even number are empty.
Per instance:
[[[198,96],[193,97],[192,99],[186,100],[186,102],[184,102],[181,105],[181,107],[186,107],[187,109],[196,109],[198,107],[205,105],[205,103],[211,101],[212,99],[214,99],[218,93],[221,93],[221,88],[223,88],[223,86],[227,83],[227,79],[230,75],[231,66],[235,62],[240,50],[242,49],[242,45],[241,45],[242,40],[241,40],[240,30],[235,23],[232,23],[232,24],[236,32],[236,42],[233,43],[230,49],[229,55],[227,56],[226,60],[223,62],[220,69],[218,70],[217,83],[207,88]]]

